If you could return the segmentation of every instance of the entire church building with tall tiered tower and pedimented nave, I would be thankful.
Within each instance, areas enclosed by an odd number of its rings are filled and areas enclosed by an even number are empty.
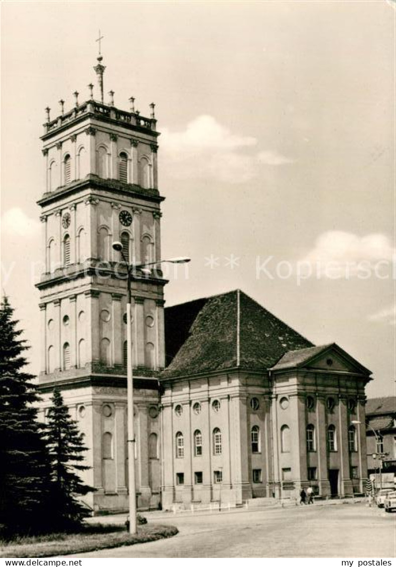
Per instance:
[[[154,104],[98,87],[44,124],[42,418],[58,387],[85,435],[94,513],[128,508],[127,266],[161,259]],[[134,274],[132,359],[140,509],[241,505],[363,490],[370,371],[314,346],[240,290],[164,310],[158,266]],[[165,311],[165,312],[164,312]],[[357,422],[360,425],[355,425]]]

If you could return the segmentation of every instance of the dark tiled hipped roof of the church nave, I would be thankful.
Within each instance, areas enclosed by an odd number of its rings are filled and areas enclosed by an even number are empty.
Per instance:
[[[289,350],[313,344],[239,290],[165,309],[172,378],[243,367],[269,369]]]

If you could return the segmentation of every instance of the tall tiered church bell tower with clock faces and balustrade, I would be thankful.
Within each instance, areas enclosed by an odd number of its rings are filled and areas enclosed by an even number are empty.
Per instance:
[[[44,124],[45,190],[38,201],[43,227],[40,290],[42,411],[58,387],[89,447],[85,481],[96,492],[94,511],[128,506],[127,268],[160,259],[157,121],[104,102],[105,67],[94,67],[98,91]],[[133,281],[132,352],[136,431],[137,505],[160,499],[157,373],[165,366],[163,287],[157,268]]]

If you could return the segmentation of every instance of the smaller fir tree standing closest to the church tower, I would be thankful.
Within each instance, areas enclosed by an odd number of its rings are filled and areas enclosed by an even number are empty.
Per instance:
[[[57,388],[53,391],[51,401],[46,438],[52,468],[53,521],[58,529],[67,529],[89,515],[77,496],[94,489],[85,485],[78,475],[78,471],[90,468],[81,464],[87,447],[84,446],[83,434],[79,433],[77,422],[71,418]]]

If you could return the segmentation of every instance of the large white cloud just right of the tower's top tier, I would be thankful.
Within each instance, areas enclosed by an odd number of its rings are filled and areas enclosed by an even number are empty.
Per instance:
[[[254,151],[256,138],[238,136],[209,115],[196,117],[182,132],[163,129],[161,141],[171,164],[168,171],[178,179],[246,183],[259,175],[260,167],[292,163],[273,150]]]

